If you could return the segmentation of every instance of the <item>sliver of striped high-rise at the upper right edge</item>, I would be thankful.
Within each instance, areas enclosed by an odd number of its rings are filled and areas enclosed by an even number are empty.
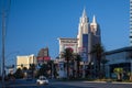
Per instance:
[[[130,45],[132,46],[132,0],[130,0]]]

